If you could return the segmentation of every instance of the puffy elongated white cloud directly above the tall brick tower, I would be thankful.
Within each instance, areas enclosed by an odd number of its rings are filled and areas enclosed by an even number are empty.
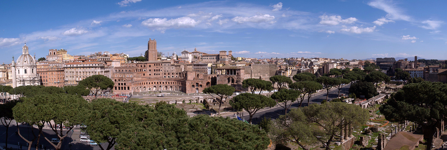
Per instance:
[[[166,18],[149,18],[141,22],[142,25],[147,26],[150,29],[156,29],[161,33],[164,33],[164,31],[169,28],[192,28],[199,23],[200,21],[195,21],[190,17],[180,17],[170,20]]]

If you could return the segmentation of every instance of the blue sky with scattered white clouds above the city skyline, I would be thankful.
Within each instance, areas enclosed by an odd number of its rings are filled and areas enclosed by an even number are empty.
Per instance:
[[[445,0],[2,1],[0,59],[49,49],[139,56],[149,38],[169,55],[445,59]],[[0,62],[1,63],[1,62]]]

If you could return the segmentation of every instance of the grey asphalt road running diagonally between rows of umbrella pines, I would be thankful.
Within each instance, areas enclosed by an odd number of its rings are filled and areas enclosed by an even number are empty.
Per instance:
[[[350,84],[346,84],[345,87],[342,87],[340,89],[340,95],[342,94],[348,94],[349,92],[349,87]],[[335,92],[335,93],[333,93]],[[338,96],[338,89],[337,88],[332,88],[329,92],[329,97],[328,100],[332,100],[334,98],[337,98]],[[321,101],[326,100],[326,92],[319,92],[319,93],[315,93],[315,96],[312,96],[311,99],[309,100],[310,104],[321,104]],[[288,104],[287,104],[288,105]],[[308,102],[307,102],[307,96],[306,99],[303,101],[303,104],[301,105],[302,107],[308,106]],[[288,111],[291,108],[298,108],[299,107],[299,102],[295,101],[294,103],[292,103],[291,107],[288,109]],[[287,112],[288,112],[287,111]],[[231,114],[230,114],[231,113]],[[258,124],[262,118],[264,117],[270,117],[272,119],[276,119],[278,118],[280,115],[284,115],[284,108],[281,106],[275,106],[272,108],[264,108],[264,109],[260,109],[259,111],[257,111],[255,113],[255,115],[253,115],[253,121],[252,124]],[[223,117],[233,117],[233,112],[228,112],[228,114],[226,116]],[[241,119],[245,119],[246,121],[249,121],[249,114],[248,112],[244,112],[244,116],[239,116]]]

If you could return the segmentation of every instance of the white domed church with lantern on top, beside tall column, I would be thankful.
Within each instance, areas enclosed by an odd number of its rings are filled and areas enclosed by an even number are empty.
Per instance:
[[[17,63],[13,65],[15,65],[13,69],[15,69],[16,75],[16,83],[13,83],[13,87],[41,85],[41,77],[37,74],[36,59],[29,54],[28,46],[26,46],[26,43],[25,46],[22,47],[22,55],[17,58]]]

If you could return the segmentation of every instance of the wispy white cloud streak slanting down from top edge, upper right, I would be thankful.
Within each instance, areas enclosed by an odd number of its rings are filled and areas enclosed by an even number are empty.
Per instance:
[[[388,14],[386,17],[391,20],[404,20],[404,21],[410,21],[411,17],[404,14],[404,12],[396,7],[396,4],[391,4],[391,1],[385,1],[385,0],[374,0],[368,3],[373,8],[381,9]]]

